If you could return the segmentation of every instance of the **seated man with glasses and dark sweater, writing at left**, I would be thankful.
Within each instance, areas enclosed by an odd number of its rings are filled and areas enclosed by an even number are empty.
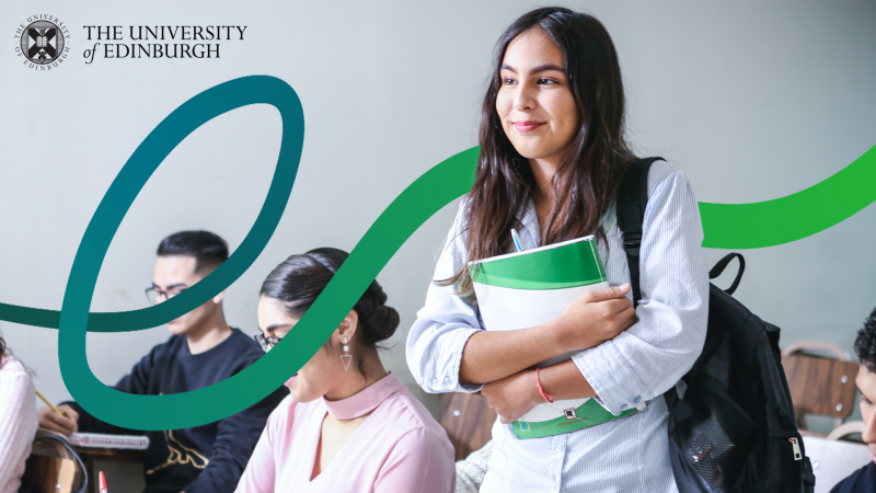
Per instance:
[[[151,302],[172,298],[206,277],[228,259],[224,240],[207,231],[183,231],[158,246]],[[171,337],[159,344],[115,389],[158,395],[199,389],[243,370],[264,352],[250,336],[231,329],[222,312],[224,293],[168,323]],[[224,420],[185,429],[147,432],[145,493],[232,492],[246,468],[267,416],[288,394],[284,387],[255,405]],[[65,416],[43,408],[39,427],[73,432],[142,434],[103,423],[76,402],[59,406]]]

